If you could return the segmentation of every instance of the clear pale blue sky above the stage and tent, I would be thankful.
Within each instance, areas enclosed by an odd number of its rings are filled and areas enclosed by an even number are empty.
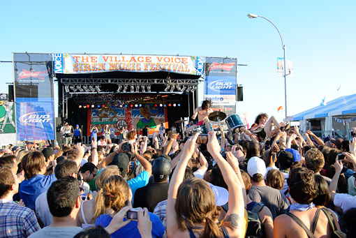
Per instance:
[[[3,1],[0,60],[12,52],[179,54],[237,57],[244,101],[237,112],[252,122],[284,107],[281,31],[292,59],[288,115],[355,94],[356,1]],[[13,81],[0,64],[0,92]],[[341,89],[336,89],[341,84]]]

